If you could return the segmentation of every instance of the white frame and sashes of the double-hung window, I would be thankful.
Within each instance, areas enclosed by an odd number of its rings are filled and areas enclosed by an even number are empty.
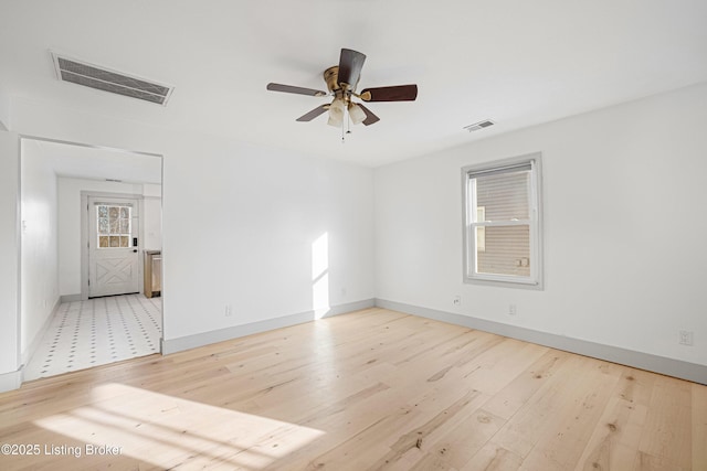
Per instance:
[[[530,185],[528,191],[529,220],[525,222],[490,222],[478,224],[472,213],[476,207],[471,194],[469,174],[481,171],[500,170],[507,167],[530,164]],[[465,283],[500,286],[507,288],[544,289],[542,255],[542,156],[540,152],[518,156],[510,159],[489,161],[462,168],[462,231],[463,261],[462,271]],[[528,225],[530,237],[530,276],[496,275],[476,271],[475,238],[476,229],[489,226]]]

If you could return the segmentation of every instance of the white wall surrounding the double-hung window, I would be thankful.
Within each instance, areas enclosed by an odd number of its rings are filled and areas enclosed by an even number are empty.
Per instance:
[[[707,84],[377,169],[377,297],[706,365],[705,129]],[[461,168],[536,151],[545,290],[463,283]]]

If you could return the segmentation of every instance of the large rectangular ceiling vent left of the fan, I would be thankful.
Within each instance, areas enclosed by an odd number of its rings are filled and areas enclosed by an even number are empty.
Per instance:
[[[157,84],[122,72],[61,56],[56,53],[52,53],[52,58],[54,60],[56,76],[62,82],[71,82],[162,106],[167,105],[167,100],[173,90],[173,87],[169,85]]]

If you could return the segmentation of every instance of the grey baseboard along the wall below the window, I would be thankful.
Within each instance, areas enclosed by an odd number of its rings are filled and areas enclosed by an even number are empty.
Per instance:
[[[376,306],[707,385],[707,365],[386,299],[376,299]]]

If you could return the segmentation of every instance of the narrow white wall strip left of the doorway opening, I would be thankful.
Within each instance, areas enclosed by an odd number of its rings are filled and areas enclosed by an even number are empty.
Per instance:
[[[19,162],[17,133],[0,130],[0,392],[17,387],[20,381]]]

